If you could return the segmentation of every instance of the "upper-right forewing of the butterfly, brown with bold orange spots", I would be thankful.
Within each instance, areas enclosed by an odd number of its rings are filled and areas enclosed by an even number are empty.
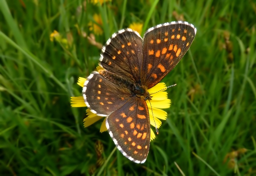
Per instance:
[[[195,35],[196,28],[184,21],[149,28],[143,42],[142,85],[152,88],[160,82],[188,51]]]

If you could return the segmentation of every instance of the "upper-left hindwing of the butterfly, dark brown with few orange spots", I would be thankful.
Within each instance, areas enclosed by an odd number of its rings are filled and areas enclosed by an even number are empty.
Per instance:
[[[142,64],[142,38],[131,29],[113,34],[102,48],[100,65],[109,72],[137,82]]]

